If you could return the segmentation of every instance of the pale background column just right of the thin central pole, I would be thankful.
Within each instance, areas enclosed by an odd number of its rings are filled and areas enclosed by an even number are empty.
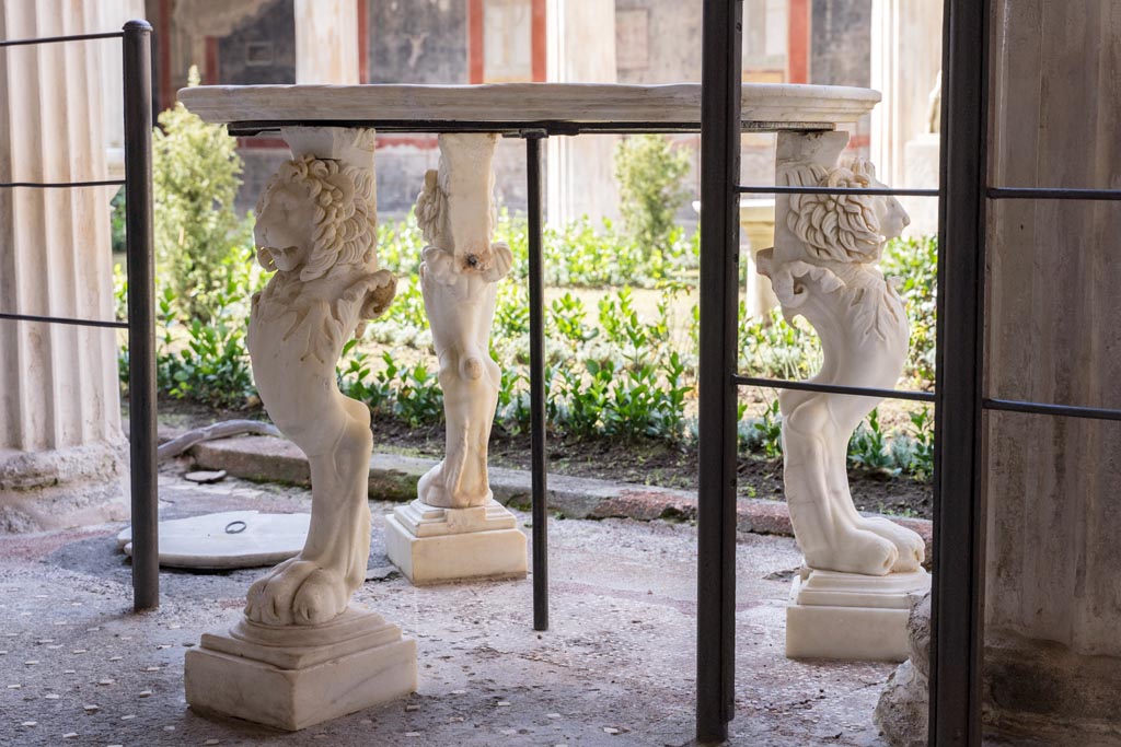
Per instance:
[[[547,77],[552,83],[617,83],[614,0],[548,0]],[[617,136],[549,138],[546,211],[560,225],[587,215],[619,214]]]

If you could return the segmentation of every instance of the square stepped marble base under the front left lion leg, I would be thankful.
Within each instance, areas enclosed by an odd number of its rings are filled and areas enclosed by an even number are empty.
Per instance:
[[[192,710],[296,731],[417,688],[417,645],[381,615],[349,608],[324,625],[242,618],[205,633],[184,662]]]

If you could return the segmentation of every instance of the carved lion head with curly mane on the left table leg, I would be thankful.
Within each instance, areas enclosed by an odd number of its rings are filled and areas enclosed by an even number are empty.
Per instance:
[[[369,263],[377,241],[373,175],[300,156],[285,162],[257,204],[254,239],[266,270],[315,280],[336,264]]]

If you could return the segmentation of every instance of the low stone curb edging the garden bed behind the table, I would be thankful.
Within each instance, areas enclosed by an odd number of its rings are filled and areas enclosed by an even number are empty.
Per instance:
[[[200,443],[192,449],[204,469],[224,469],[237,477],[258,482],[307,485],[311,473],[307,458],[287,439],[245,436]],[[435,459],[391,454],[374,454],[370,459],[370,496],[382,501],[408,502],[416,497],[416,485]],[[520,469],[490,469],[491,489],[503,505],[528,508],[530,474]],[[587,477],[549,474],[549,511],[566,519],[655,519],[694,521],[697,496],[650,485],[612,483]],[[927,560],[933,557],[933,526],[925,519],[889,516],[919,533],[926,541]],[[741,532],[794,536],[790,514],[781,501],[739,498],[736,525]]]

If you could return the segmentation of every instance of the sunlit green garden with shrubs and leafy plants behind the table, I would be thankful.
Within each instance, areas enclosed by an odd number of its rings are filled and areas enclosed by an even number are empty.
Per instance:
[[[268,279],[254,261],[253,216],[233,207],[241,161],[224,128],[182,105],[156,132],[157,372],[165,410],[197,423],[266,418],[245,349],[249,299]],[[622,220],[584,218],[545,232],[546,379],[552,468],[673,487],[695,485],[698,234],[676,216],[692,193],[687,157],[663,136],[618,147]],[[114,220],[123,240],[123,216]],[[515,267],[500,283],[491,354],[502,363],[491,455],[528,464],[529,307],[526,220],[501,211],[494,232]],[[895,240],[881,267],[902,296],[911,353],[901,385],[929,391],[934,372],[936,242]],[[344,348],[341,390],[370,408],[376,448],[439,454],[444,407],[418,267],[424,241],[413,215],[382,220],[378,255],[399,278],[388,312]],[[124,281],[118,272],[123,309]],[[805,320],[740,308],[740,368],[806,379],[819,365]],[[122,385],[128,351],[122,347]],[[745,389],[740,402],[740,493],[781,499],[778,400]],[[933,419],[924,404],[882,404],[849,445],[861,508],[929,516]],[[854,489],[854,494],[858,491]]]

